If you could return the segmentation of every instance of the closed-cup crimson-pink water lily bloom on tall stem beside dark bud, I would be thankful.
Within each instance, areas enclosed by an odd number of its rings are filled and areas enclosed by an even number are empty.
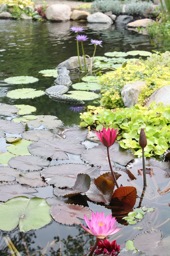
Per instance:
[[[108,128],[107,131],[105,128],[103,128],[103,133],[101,130],[99,130],[99,133],[100,134],[96,132],[96,135],[98,136],[99,140],[104,144],[104,146],[106,146],[107,148],[115,143],[115,140],[119,135],[119,133],[116,135],[117,129],[113,130],[113,128],[111,130],[110,128]]]

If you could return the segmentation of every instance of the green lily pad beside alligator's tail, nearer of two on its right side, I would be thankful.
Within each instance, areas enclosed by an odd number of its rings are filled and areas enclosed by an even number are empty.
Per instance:
[[[99,98],[99,95],[94,92],[84,92],[84,91],[69,91],[71,95],[63,94],[68,98],[75,98],[78,100],[94,100]]]

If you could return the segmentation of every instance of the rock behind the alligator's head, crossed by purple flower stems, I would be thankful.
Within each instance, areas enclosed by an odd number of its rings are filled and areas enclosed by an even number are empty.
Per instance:
[[[84,58],[80,56],[80,63],[82,65],[82,68],[84,68]],[[86,58],[86,64],[90,64],[90,60]],[[78,62],[78,56],[72,56],[68,60],[65,60],[61,62],[56,69],[59,69],[61,67],[66,67],[68,70],[74,70],[76,68],[80,68],[79,62]]]

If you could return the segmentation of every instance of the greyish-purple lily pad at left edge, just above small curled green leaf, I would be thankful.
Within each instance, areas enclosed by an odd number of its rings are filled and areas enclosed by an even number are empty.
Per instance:
[[[16,124],[9,120],[0,119],[0,130],[12,134],[20,134],[25,130],[25,126],[23,124]]]

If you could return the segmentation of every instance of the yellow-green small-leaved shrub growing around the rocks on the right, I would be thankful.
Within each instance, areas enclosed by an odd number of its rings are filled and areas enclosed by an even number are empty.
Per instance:
[[[163,56],[162,56],[163,57]],[[102,84],[101,106],[105,108],[115,108],[123,106],[121,90],[125,84],[135,81],[145,81],[139,94],[138,101],[143,103],[146,97],[150,96],[155,90],[170,84],[169,68],[162,65],[150,65],[148,60],[127,62],[127,65],[117,68],[112,72],[98,77],[98,83]]]

